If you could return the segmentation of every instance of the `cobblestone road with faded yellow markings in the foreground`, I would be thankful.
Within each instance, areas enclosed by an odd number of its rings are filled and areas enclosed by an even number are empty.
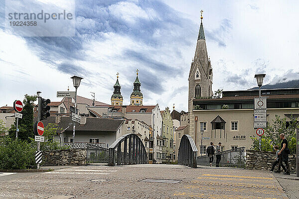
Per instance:
[[[179,183],[140,182],[144,179]],[[85,166],[0,182],[1,199],[283,199],[270,172],[177,165]]]

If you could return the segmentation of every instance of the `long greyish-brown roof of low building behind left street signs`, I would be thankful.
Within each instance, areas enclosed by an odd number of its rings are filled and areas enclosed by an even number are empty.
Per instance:
[[[46,126],[48,123],[55,123],[55,118],[55,116],[50,116],[42,122]],[[57,123],[60,128],[65,129],[72,122],[69,116],[61,116],[60,118],[60,123]],[[34,121],[36,120],[37,118],[34,118]],[[123,119],[86,117],[86,124],[79,125],[76,123],[76,131],[116,132],[123,122]],[[68,128],[66,131],[73,131],[73,129]]]

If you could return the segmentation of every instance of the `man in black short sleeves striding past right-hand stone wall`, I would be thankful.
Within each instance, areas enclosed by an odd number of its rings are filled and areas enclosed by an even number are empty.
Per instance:
[[[280,156],[278,170],[275,171],[275,173],[280,173],[281,172],[281,167],[283,166],[283,162],[284,162],[285,165],[286,165],[286,169],[285,169],[284,174],[285,175],[290,175],[290,165],[289,165],[289,153],[290,153],[290,149],[288,148],[288,140],[285,138],[285,134],[284,133],[280,134],[279,137],[283,141],[281,143],[281,150],[278,153],[278,155]]]

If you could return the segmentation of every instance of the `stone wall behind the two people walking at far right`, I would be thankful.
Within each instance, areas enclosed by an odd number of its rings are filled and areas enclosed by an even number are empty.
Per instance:
[[[246,150],[246,169],[270,170],[276,157],[275,154],[275,152]],[[289,164],[290,172],[296,173],[296,155],[289,155]]]

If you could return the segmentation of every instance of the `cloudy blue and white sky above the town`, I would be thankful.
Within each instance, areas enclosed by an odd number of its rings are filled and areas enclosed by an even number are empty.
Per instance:
[[[144,104],[175,103],[186,111],[201,9],[213,91],[255,87],[255,73],[267,74],[265,84],[299,79],[298,0],[77,0],[75,6],[75,37],[22,37],[5,29],[0,0],[0,106],[36,91],[61,100],[56,92],[73,91],[73,75],[84,78],[78,95],[94,92],[110,103],[117,72],[128,104],[139,69]]]

